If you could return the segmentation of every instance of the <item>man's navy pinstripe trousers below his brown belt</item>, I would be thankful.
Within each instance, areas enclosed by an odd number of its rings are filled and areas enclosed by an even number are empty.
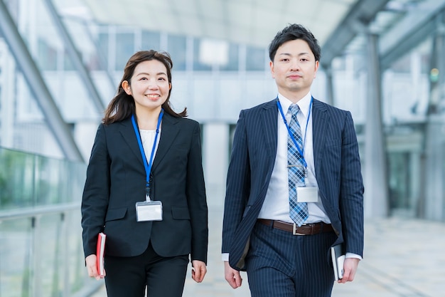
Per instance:
[[[295,236],[257,223],[246,257],[252,297],[329,297],[334,275],[328,250],[334,232]]]

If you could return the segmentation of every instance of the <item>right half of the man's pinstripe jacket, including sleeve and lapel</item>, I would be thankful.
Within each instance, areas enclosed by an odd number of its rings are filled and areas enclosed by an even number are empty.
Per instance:
[[[321,202],[338,233],[335,244],[363,256],[363,179],[350,112],[313,100],[313,157]]]

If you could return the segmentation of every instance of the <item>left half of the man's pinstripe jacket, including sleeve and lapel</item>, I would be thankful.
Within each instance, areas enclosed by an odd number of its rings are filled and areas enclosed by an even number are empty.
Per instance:
[[[244,269],[242,258],[274,167],[277,113],[277,105],[272,100],[242,110],[237,122],[223,223],[223,253],[230,252],[230,264],[237,269]]]

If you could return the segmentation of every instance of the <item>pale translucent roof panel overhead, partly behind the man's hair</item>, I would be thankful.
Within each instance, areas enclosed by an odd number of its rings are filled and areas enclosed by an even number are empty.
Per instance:
[[[303,24],[323,44],[357,0],[84,1],[100,23],[264,47],[290,23]]]

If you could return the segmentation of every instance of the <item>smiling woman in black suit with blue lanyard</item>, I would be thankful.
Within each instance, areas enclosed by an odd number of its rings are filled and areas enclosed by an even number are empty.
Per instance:
[[[82,238],[89,276],[97,234],[107,235],[108,296],[182,296],[191,258],[203,281],[208,209],[200,126],[169,103],[168,53],[129,58],[117,95],[97,129],[82,197]]]

